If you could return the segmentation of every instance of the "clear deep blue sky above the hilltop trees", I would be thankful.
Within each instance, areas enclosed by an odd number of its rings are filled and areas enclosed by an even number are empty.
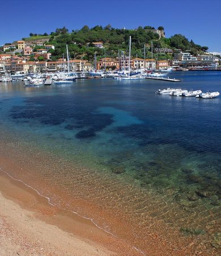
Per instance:
[[[117,28],[163,26],[166,37],[182,34],[210,52],[221,52],[220,0],[11,0],[5,11],[1,2],[0,45],[30,32],[110,23]]]

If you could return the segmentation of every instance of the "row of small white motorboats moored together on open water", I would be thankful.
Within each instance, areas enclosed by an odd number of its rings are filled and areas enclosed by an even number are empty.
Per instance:
[[[203,93],[202,90],[187,90],[181,88],[167,88],[159,89],[155,94],[169,94],[170,96],[185,96],[185,97],[197,97],[197,98],[215,98],[219,96],[219,92],[210,92],[207,91]]]

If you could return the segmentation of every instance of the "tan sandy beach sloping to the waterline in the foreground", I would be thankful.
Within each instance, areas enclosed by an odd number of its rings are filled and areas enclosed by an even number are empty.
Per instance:
[[[0,255],[141,255],[0,172]]]

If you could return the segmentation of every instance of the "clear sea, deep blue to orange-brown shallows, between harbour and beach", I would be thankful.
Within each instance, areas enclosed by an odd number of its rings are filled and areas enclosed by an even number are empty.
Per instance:
[[[147,235],[221,249],[221,72],[169,73],[181,82],[79,79],[0,83],[0,156],[13,179],[147,253]],[[3,166],[0,166],[4,171]],[[156,227],[154,227],[154,225]],[[169,231],[168,231],[169,230]],[[170,236],[171,233],[171,236]]]

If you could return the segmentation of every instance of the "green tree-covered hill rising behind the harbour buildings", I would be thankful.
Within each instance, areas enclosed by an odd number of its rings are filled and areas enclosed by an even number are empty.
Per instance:
[[[69,32],[67,28],[57,28],[56,32],[50,34],[49,43],[53,44],[55,49],[51,50],[52,60],[56,60],[62,57],[63,53],[66,52],[66,44],[69,46],[69,53],[71,58],[76,59],[87,59],[91,61],[94,59],[96,52],[97,58],[108,56],[117,57],[118,50],[127,51],[129,36],[131,35],[131,55],[143,57],[144,56],[144,45],[146,46],[146,57],[151,57],[151,42],[153,44],[154,57],[158,59],[171,59],[172,55],[165,55],[164,53],[158,53],[156,55],[156,48],[172,48],[173,52],[176,49],[182,51],[188,50],[192,55],[207,51],[208,47],[199,46],[195,44],[193,40],[188,40],[181,34],[171,36],[171,38],[164,38],[159,36],[155,31],[154,27],[145,26],[138,27],[135,30],[128,30],[125,28],[113,28],[110,24],[105,27],[95,26],[89,28],[83,26],[80,30],[73,30]],[[164,31],[163,27],[159,27],[158,30]],[[30,33],[32,36],[37,34]],[[42,36],[48,36],[44,34]],[[29,38],[29,39],[31,39]],[[25,40],[28,40],[26,38]],[[93,43],[103,42],[104,48],[97,48]]]

